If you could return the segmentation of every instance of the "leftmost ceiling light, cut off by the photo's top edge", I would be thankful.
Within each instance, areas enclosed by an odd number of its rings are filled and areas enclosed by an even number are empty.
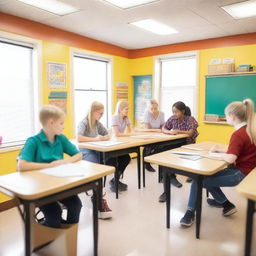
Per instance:
[[[43,9],[57,15],[66,15],[78,11],[74,6],[57,0],[18,0],[28,5]]]

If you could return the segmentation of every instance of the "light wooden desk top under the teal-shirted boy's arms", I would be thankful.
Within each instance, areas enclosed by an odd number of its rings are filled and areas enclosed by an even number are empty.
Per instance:
[[[38,170],[2,175],[0,176],[0,190],[3,188],[21,199],[33,200],[88,183],[115,171],[112,166],[84,160],[79,161],[76,165],[84,170],[84,176],[55,177]]]

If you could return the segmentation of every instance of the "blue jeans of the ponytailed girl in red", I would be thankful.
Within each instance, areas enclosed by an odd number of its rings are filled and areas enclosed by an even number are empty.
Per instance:
[[[240,181],[245,177],[238,169],[223,169],[215,173],[214,175],[207,176],[203,180],[203,187],[206,188],[213,198],[218,203],[224,203],[227,198],[222,192],[220,187],[233,187],[240,183]],[[190,195],[188,200],[188,210],[194,211],[196,208],[196,195],[197,195],[197,182],[193,180],[190,187]]]

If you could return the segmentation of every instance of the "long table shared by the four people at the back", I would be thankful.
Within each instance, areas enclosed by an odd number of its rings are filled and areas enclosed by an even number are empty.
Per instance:
[[[100,153],[100,163],[106,163],[109,158],[117,158],[118,156],[136,153],[137,154],[137,171],[138,171],[138,188],[141,188],[141,156],[140,148],[149,145],[161,144],[161,146],[180,146],[185,143],[188,136],[185,134],[180,135],[164,135],[156,132],[137,132],[130,137],[115,137],[111,141],[122,142],[122,144],[113,146],[101,146],[95,143],[84,142],[78,143],[79,148],[86,148],[98,151]],[[144,163],[144,150],[143,150],[143,186],[145,187],[145,163]],[[116,161],[115,166],[118,163]],[[115,172],[115,181],[117,181],[117,168]],[[118,182],[116,185],[116,198],[118,198]]]

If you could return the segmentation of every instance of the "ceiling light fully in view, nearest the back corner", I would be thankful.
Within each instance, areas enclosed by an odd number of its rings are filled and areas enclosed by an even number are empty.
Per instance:
[[[135,21],[131,22],[130,24],[135,25],[139,28],[143,28],[158,35],[170,35],[178,33],[176,29],[168,27],[167,25],[164,25],[152,19]]]

